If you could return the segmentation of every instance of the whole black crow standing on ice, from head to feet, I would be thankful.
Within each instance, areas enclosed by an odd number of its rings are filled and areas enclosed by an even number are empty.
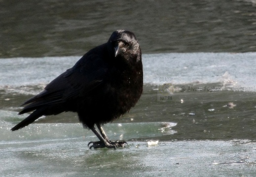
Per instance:
[[[90,148],[123,147],[125,142],[110,141],[101,125],[134,107],[142,90],[139,43],[133,32],[116,30],[107,43],[87,52],[41,93],[26,101],[23,105],[28,105],[19,114],[34,112],[11,130],[27,126],[41,116],[72,111],[100,140],[90,142]]]

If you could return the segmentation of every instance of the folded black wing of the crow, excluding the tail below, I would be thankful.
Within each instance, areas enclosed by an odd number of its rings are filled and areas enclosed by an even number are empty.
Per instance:
[[[107,67],[102,58],[97,55],[85,55],[66,72],[62,73],[38,95],[26,101],[29,104],[19,113],[24,114],[44,106],[71,101],[85,96],[104,80]]]

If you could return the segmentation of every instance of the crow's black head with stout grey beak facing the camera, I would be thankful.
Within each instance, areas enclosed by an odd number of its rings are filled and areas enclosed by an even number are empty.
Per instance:
[[[110,55],[114,58],[134,58],[140,51],[139,43],[133,32],[127,30],[114,31],[108,41]]]

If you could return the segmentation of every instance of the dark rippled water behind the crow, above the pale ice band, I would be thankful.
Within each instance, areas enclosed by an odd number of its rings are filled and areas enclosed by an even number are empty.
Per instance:
[[[256,51],[255,0],[0,1],[0,57],[80,56],[115,29],[143,53]]]

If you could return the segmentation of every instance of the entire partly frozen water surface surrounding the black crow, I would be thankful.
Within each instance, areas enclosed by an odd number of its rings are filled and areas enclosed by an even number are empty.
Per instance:
[[[143,50],[142,98],[104,126],[127,147],[89,149],[73,113],[10,132],[19,105],[115,29]],[[0,0],[0,176],[255,177],[255,68],[255,0]]]

